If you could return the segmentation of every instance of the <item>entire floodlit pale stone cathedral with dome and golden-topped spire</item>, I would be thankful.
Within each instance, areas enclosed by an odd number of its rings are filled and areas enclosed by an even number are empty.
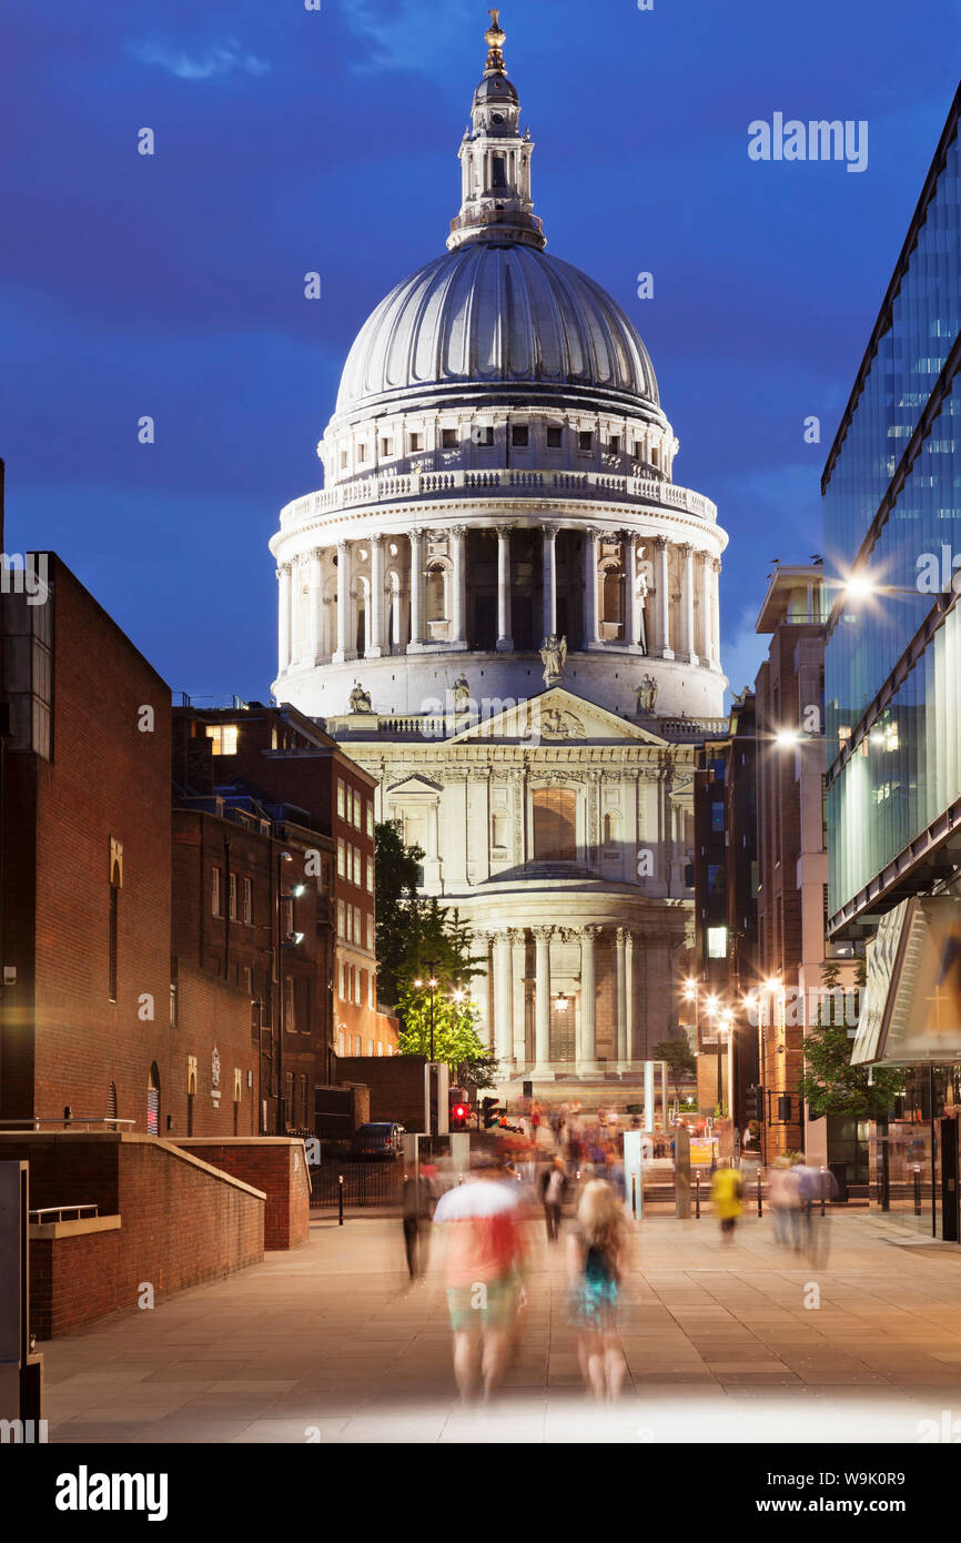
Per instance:
[[[491,14],[447,250],[361,327],[324,488],[270,542],[273,691],[376,776],[470,924],[501,1091],[597,1102],[677,1023],[727,535],[674,480],[634,324],[545,252]]]

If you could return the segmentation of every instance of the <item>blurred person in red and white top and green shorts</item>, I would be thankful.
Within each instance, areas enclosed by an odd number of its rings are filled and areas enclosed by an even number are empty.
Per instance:
[[[495,1157],[478,1153],[466,1182],[437,1204],[433,1221],[449,1224],[447,1308],[454,1333],[454,1373],[464,1401],[478,1370],[483,1396],[497,1390],[515,1313],[524,1305],[520,1185],[504,1177]]]

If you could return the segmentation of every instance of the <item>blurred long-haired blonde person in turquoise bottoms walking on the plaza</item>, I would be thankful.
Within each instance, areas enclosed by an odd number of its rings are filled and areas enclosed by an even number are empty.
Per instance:
[[[578,1332],[577,1358],[595,1398],[614,1400],[625,1376],[617,1333],[617,1301],[626,1256],[620,1200],[603,1179],[585,1185],[577,1227],[568,1239],[571,1322]]]

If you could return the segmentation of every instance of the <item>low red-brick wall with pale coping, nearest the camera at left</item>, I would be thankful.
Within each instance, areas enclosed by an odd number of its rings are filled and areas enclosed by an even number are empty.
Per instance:
[[[29,1162],[31,1210],[69,1204],[71,1185],[76,1204],[93,1200],[99,1183],[105,1202],[116,1196],[120,1216],[119,1231],[31,1241],[39,1339],[136,1307],[145,1284],[159,1299],[264,1258],[264,1194],[173,1143],[2,1134],[0,1156]]]

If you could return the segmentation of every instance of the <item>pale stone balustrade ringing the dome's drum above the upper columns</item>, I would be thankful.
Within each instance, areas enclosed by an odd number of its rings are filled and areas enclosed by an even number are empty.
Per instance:
[[[660,508],[682,509],[710,525],[717,520],[717,506],[703,494],[657,477],[619,475],[615,472],[554,472],[523,471],[520,468],[491,468],[489,471],[412,471],[387,477],[358,477],[353,481],[336,483],[319,492],[305,494],[281,509],[281,528],[301,525],[304,520],[349,509],[358,503],[381,505],[407,498],[437,498],[458,494],[504,489],[509,494],[534,494],[537,497],[569,498],[617,498],[649,503]]]

